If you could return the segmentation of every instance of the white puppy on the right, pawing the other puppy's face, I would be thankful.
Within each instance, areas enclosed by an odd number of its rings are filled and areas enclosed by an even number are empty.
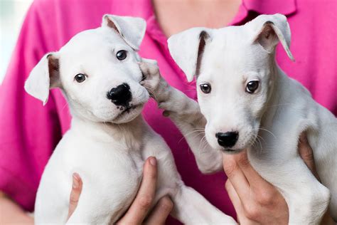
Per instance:
[[[293,59],[289,24],[280,14],[244,26],[191,28],[169,38],[171,55],[188,80],[196,75],[200,112],[196,102],[168,88],[158,71],[144,85],[181,129],[202,172],[222,167],[221,151],[248,149],[253,167],[286,199],[289,224],[319,224],[330,199],[337,221],[337,120],[277,66],[278,42]],[[191,135],[203,127],[208,147],[203,134]],[[321,183],[297,152],[301,132],[314,150]]]

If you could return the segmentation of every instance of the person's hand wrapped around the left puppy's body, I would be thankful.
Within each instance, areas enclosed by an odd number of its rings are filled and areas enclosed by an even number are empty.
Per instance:
[[[165,224],[167,217],[173,209],[173,202],[169,197],[162,197],[156,206],[152,208],[156,192],[156,179],[156,158],[149,157],[144,163],[143,179],[137,196],[124,216],[117,221],[117,224]],[[76,209],[81,191],[82,180],[78,174],[74,174],[68,219]]]

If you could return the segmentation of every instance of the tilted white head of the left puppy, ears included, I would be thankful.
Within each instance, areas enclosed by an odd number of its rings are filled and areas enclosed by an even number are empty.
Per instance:
[[[100,28],[75,35],[58,52],[48,53],[31,71],[25,89],[47,103],[50,88],[61,88],[73,116],[95,122],[129,122],[149,93],[139,84],[137,51],[143,19],[103,16]]]

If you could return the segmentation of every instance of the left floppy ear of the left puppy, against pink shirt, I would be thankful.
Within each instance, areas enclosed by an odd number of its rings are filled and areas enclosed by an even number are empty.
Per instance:
[[[25,83],[25,90],[46,105],[49,89],[56,87],[60,87],[58,53],[48,53],[31,70]]]

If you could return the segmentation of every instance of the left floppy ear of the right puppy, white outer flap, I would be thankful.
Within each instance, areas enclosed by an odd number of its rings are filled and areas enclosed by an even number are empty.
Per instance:
[[[198,75],[206,43],[210,40],[210,29],[191,28],[171,36],[169,51],[174,61],[185,73],[188,82]]]

